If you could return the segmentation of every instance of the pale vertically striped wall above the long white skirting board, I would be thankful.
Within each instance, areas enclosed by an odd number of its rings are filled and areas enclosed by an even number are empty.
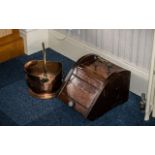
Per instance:
[[[59,30],[95,48],[126,60],[131,65],[149,70],[153,30],[72,29]]]

